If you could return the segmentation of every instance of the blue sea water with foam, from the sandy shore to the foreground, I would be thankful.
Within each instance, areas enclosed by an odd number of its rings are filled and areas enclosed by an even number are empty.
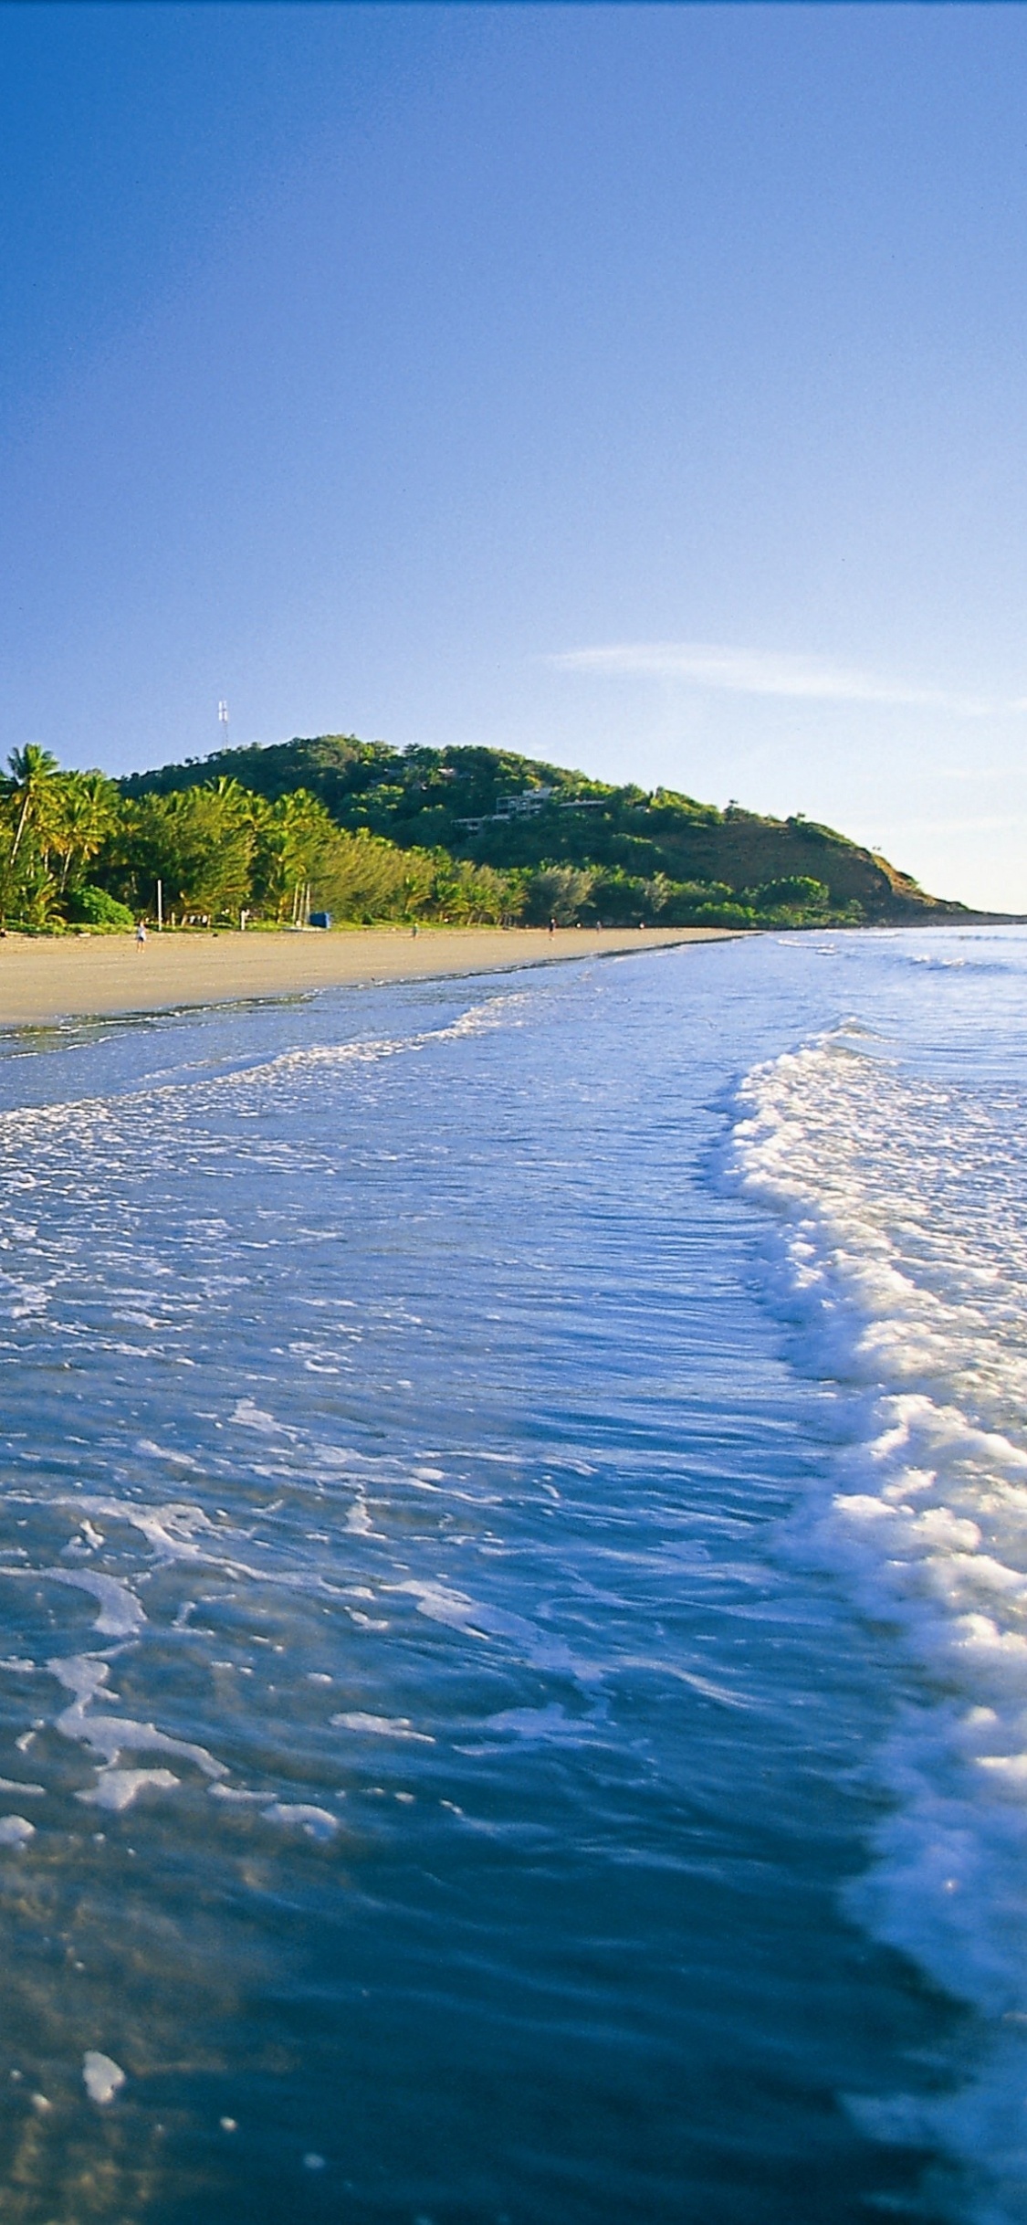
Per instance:
[[[1014,930],[0,1039],[0,2221],[1027,2218],[1025,1092]]]

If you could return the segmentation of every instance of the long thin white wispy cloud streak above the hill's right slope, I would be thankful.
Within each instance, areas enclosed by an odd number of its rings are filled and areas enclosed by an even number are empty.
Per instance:
[[[1027,710],[1016,703],[985,703],[980,696],[949,694],[883,679],[825,656],[787,656],[776,650],[738,650],[718,641],[614,641],[594,650],[560,650],[549,656],[562,672],[607,672],[614,676],[678,679],[691,688],[725,688],[731,694],[789,696],[807,703],[907,703],[925,710],[980,719],[989,712]]]

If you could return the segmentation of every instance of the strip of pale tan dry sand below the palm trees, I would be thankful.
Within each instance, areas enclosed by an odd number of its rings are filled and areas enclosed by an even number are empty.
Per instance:
[[[289,997],[358,981],[502,972],[560,959],[614,957],[667,943],[720,941],[725,928],[353,928],[302,934],[62,934],[0,941],[0,1026],[158,1012],[238,997]]]

